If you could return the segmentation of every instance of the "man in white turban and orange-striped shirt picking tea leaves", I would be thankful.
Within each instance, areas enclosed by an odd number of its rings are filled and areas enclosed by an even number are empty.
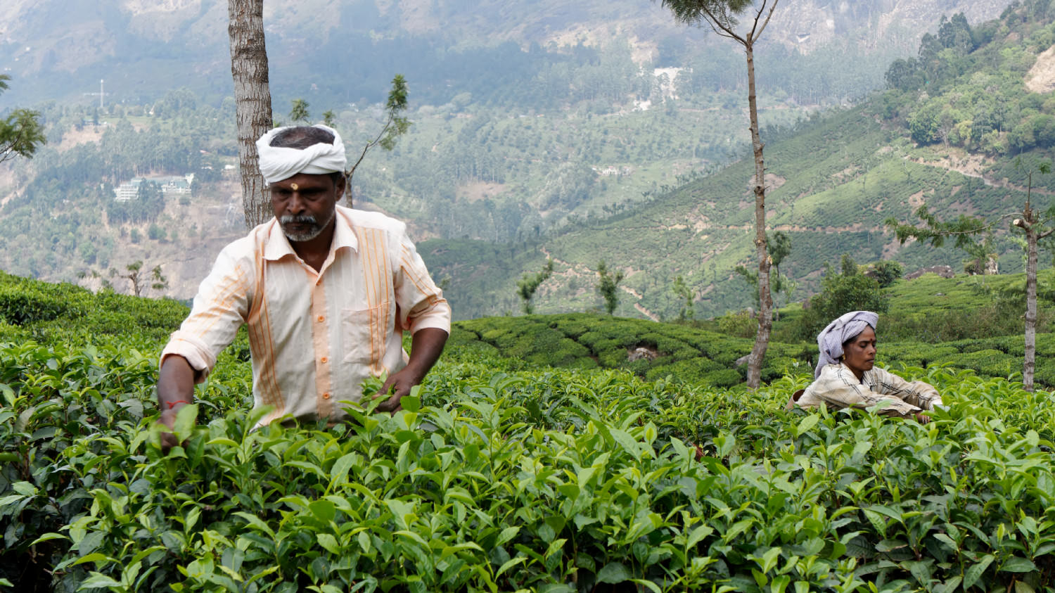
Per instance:
[[[202,282],[190,315],[161,352],[160,421],[173,427],[216,356],[248,325],[257,426],[292,416],[342,420],[367,377],[388,372],[378,406],[425,377],[450,331],[450,307],[406,236],[406,226],[337,206],[344,144],[326,126],[271,130],[256,141],[274,218],[231,243]],[[402,332],[414,338],[410,355]],[[166,434],[166,449],[175,438]]]

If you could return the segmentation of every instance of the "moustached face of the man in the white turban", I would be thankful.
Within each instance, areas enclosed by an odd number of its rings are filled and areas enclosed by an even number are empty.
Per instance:
[[[333,222],[337,200],[344,193],[344,179],[334,184],[329,175],[298,173],[270,186],[271,207],[286,238],[315,238]]]

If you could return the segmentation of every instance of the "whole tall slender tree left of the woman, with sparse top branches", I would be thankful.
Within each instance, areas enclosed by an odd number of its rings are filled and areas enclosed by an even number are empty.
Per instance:
[[[779,0],[660,0],[670,8],[674,18],[686,24],[707,23],[722,37],[732,39],[744,47],[747,57],[747,107],[751,126],[751,148],[754,153],[754,249],[759,257],[759,333],[747,362],[747,386],[755,388],[762,381],[762,361],[769,347],[773,327],[773,298],[769,292],[769,254],[766,249],[766,166],[762,158],[762,136],[759,133],[759,108],[754,93],[754,43],[762,36],[773,16]],[[752,8],[746,33],[738,33],[737,17]]]

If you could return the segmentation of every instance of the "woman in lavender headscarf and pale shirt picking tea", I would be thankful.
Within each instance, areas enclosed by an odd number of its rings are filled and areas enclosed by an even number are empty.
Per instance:
[[[878,321],[879,315],[871,311],[851,311],[829,323],[817,336],[821,357],[813,371],[814,381],[795,403],[817,407],[823,402],[835,408],[878,404],[882,407],[880,414],[929,422],[931,417],[922,412],[941,405],[937,389],[872,367]]]

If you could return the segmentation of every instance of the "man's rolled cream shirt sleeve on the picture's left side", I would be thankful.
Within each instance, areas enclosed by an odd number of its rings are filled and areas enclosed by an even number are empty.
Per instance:
[[[252,299],[249,279],[253,268],[251,261],[246,262],[232,252],[235,245],[220,252],[198,287],[191,313],[161,350],[159,364],[170,356],[180,356],[197,371],[197,382],[209,375],[216,357],[234,341],[249,313]]]

